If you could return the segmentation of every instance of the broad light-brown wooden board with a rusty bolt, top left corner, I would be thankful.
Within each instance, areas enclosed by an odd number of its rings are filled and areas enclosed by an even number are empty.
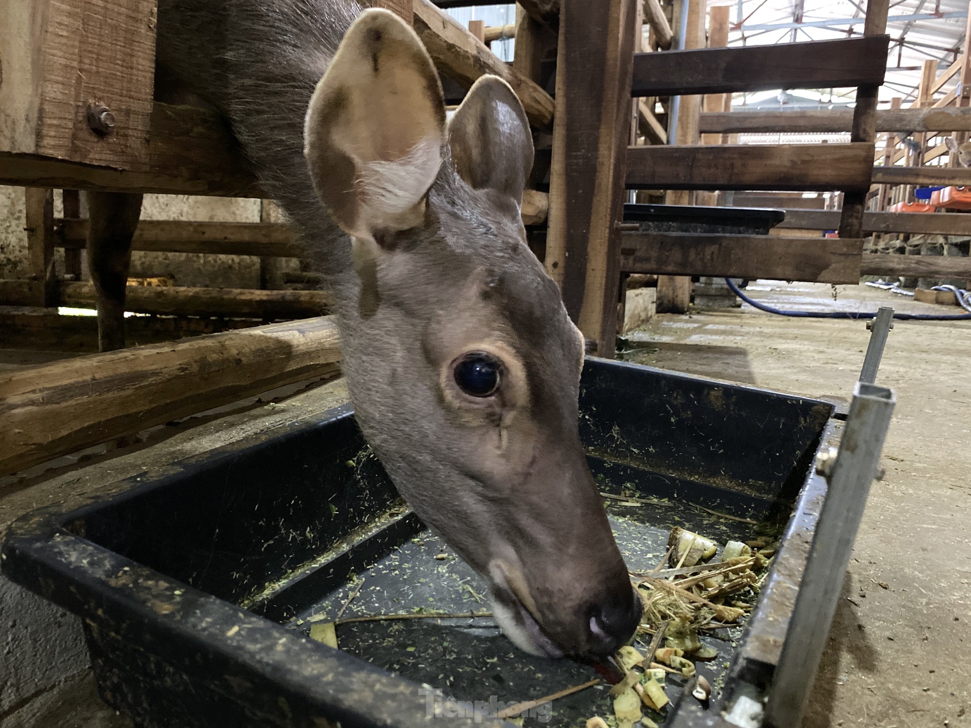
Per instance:
[[[0,151],[146,169],[155,0],[5,2],[0,34]],[[89,126],[95,106],[105,133]]]

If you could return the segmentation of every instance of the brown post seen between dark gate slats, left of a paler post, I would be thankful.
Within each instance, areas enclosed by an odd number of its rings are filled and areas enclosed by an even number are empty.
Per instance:
[[[704,45],[705,23],[702,13],[703,0],[683,0],[682,12],[687,13],[684,48],[701,48]],[[678,128],[668,129],[668,139],[677,145],[698,143],[698,121],[701,114],[701,96],[682,96],[678,112]],[[690,190],[668,190],[664,195],[667,205],[690,205]],[[688,276],[657,277],[657,313],[684,314],[691,303],[691,279]]]

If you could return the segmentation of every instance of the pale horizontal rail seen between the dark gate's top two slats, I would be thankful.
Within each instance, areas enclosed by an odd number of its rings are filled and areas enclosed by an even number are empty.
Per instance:
[[[853,111],[833,109],[794,112],[710,112],[701,115],[701,131],[737,132],[849,132]],[[886,109],[877,111],[877,131],[971,131],[971,109]]]

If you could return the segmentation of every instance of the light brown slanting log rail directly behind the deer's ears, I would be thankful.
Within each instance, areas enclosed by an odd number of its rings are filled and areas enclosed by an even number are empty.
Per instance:
[[[499,60],[461,23],[436,8],[429,0],[414,0],[415,32],[428,50],[440,73],[466,87],[484,74],[494,74],[509,83],[532,124],[549,126],[552,98],[538,83],[523,77]]]

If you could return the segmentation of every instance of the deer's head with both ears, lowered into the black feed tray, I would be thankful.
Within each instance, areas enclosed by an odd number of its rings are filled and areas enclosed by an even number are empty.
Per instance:
[[[338,314],[369,444],[487,579],[514,643],[612,652],[641,605],[578,436],[584,340],[525,245],[533,145],[516,94],[485,76],[447,124],[419,38],[369,10],[318,83],[305,144],[351,237]]]

